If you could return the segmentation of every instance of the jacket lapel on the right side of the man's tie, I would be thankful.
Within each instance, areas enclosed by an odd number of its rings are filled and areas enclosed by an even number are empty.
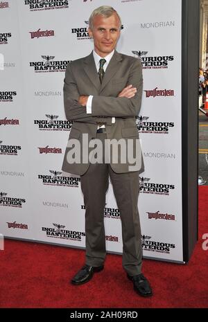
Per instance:
[[[119,68],[121,67],[121,61],[122,55],[115,51],[112,59],[110,60],[110,63],[107,65],[100,92],[103,91],[107,83],[110,82],[111,78],[115,75],[116,71],[119,70]]]

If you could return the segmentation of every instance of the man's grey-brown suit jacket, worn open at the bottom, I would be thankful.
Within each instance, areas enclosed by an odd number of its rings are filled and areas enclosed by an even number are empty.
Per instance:
[[[118,98],[118,94],[124,87],[132,84],[137,88],[137,93],[133,98]],[[141,107],[141,96],[143,89],[143,77],[141,62],[135,57],[114,52],[110,63],[107,66],[102,84],[98,78],[93,53],[87,57],[74,60],[67,65],[64,78],[64,109],[68,120],[73,120],[69,142],[64,154],[62,170],[75,175],[83,175],[88,167],[89,161],[82,161],[83,145],[82,134],[88,134],[88,143],[96,138],[98,123],[105,123],[107,138],[119,140],[123,138],[125,143],[132,139],[133,154],[137,159],[137,167],[130,170],[129,166],[136,164],[132,161],[121,161],[119,153],[118,162],[110,162],[112,170],[117,173],[137,171],[141,168],[141,147],[139,144],[139,134],[137,131],[136,118]],[[78,104],[79,96],[93,95],[92,114],[87,114],[86,107]],[[112,124],[112,116],[116,121]],[[69,147],[71,139],[76,138],[80,142],[81,162],[69,163],[67,154],[73,147]],[[137,139],[137,140],[136,140]],[[136,145],[137,152],[136,153]],[[89,152],[93,148],[89,148]],[[112,161],[112,160],[111,160]]]

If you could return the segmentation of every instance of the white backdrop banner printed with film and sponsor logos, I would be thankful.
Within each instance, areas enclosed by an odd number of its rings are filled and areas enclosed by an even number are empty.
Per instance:
[[[121,15],[117,51],[143,66],[144,257],[182,262],[181,0],[0,1],[0,233],[85,247],[80,177],[61,170],[72,125],[62,88],[67,64],[93,49],[88,19],[102,5]],[[122,253],[111,185],[104,216],[107,251]]]

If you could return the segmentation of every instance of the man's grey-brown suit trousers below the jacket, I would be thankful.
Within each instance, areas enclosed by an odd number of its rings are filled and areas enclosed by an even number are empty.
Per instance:
[[[141,228],[138,212],[139,172],[116,173],[110,163],[104,163],[105,133],[97,133],[96,138],[103,142],[103,163],[90,163],[87,172],[80,177],[85,202],[86,264],[104,264],[105,195],[109,177],[121,215],[123,257],[122,265],[130,276],[141,274]]]

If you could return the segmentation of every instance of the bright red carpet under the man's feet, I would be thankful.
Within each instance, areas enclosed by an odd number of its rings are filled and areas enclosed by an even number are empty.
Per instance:
[[[6,240],[0,251],[0,307],[208,307],[208,187],[199,188],[199,240],[188,265],[144,260],[154,295],[141,298],[121,267],[121,256],[107,255],[105,269],[76,287],[70,278],[85,252],[33,242]]]

